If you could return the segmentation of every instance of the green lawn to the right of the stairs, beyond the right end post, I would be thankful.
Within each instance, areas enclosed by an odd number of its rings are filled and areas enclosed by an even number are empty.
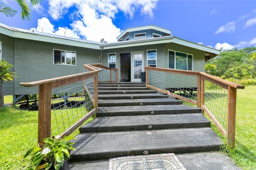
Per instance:
[[[236,143],[235,148],[230,149],[226,145],[221,148],[243,170],[256,169],[256,86],[246,86],[245,89],[237,90],[236,103]],[[188,106],[195,106],[183,102]],[[208,118],[209,119],[209,118]],[[211,123],[214,131],[226,144],[226,138]]]

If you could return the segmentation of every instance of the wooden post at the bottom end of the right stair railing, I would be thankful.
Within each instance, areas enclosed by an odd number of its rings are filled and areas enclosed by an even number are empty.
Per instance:
[[[236,88],[228,86],[227,145],[235,147],[236,133]]]

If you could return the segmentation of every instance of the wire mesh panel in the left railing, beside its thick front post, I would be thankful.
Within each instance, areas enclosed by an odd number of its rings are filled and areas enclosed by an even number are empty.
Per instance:
[[[89,84],[87,88],[89,90],[85,90],[86,84]],[[94,108],[92,94],[94,94],[94,88],[91,80],[88,80],[88,83],[86,80],[52,89],[52,136],[62,134]]]

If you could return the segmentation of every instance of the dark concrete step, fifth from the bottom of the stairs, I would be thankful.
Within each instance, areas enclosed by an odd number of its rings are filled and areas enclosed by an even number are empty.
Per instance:
[[[152,91],[152,90],[151,90]],[[145,94],[99,94],[98,99],[116,100],[116,99],[148,99],[148,98],[168,98],[168,95],[158,93],[145,93]]]

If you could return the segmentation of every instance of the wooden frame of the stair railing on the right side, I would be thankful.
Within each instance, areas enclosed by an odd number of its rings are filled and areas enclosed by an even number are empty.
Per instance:
[[[216,76],[212,76],[210,74],[204,73],[204,72],[196,72],[196,71],[188,71],[188,70],[175,70],[175,69],[169,69],[169,68],[155,68],[146,66],[146,87],[153,88],[154,90],[158,90],[159,92],[169,94],[171,96],[174,96],[176,98],[180,98],[181,100],[190,102],[192,104],[196,104],[197,107],[200,107],[204,113],[210,117],[210,119],[213,121],[213,123],[216,125],[216,127],[220,130],[220,132],[223,135],[226,135],[227,137],[227,145],[230,145],[231,147],[235,146],[235,124],[236,124],[236,89],[244,89],[244,86],[240,84],[236,84],[234,82],[230,82],[227,80],[224,80],[222,78],[218,78]],[[159,89],[157,87],[151,86],[148,84],[148,70],[154,70],[159,72],[168,72],[173,74],[182,74],[182,75],[188,75],[188,76],[196,76],[197,77],[197,101],[193,101],[187,98],[184,98],[182,96],[167,92],[166,90]],[[227,128],[224,129],[224,127],[218,122],[218,120],[214,117],[214,115],[210,112],[210,110],[204,105],[204,80],[208,80],[214,84],[217,84],[218,86],[225,88],[228,90],[228,110],[227,110]]]

